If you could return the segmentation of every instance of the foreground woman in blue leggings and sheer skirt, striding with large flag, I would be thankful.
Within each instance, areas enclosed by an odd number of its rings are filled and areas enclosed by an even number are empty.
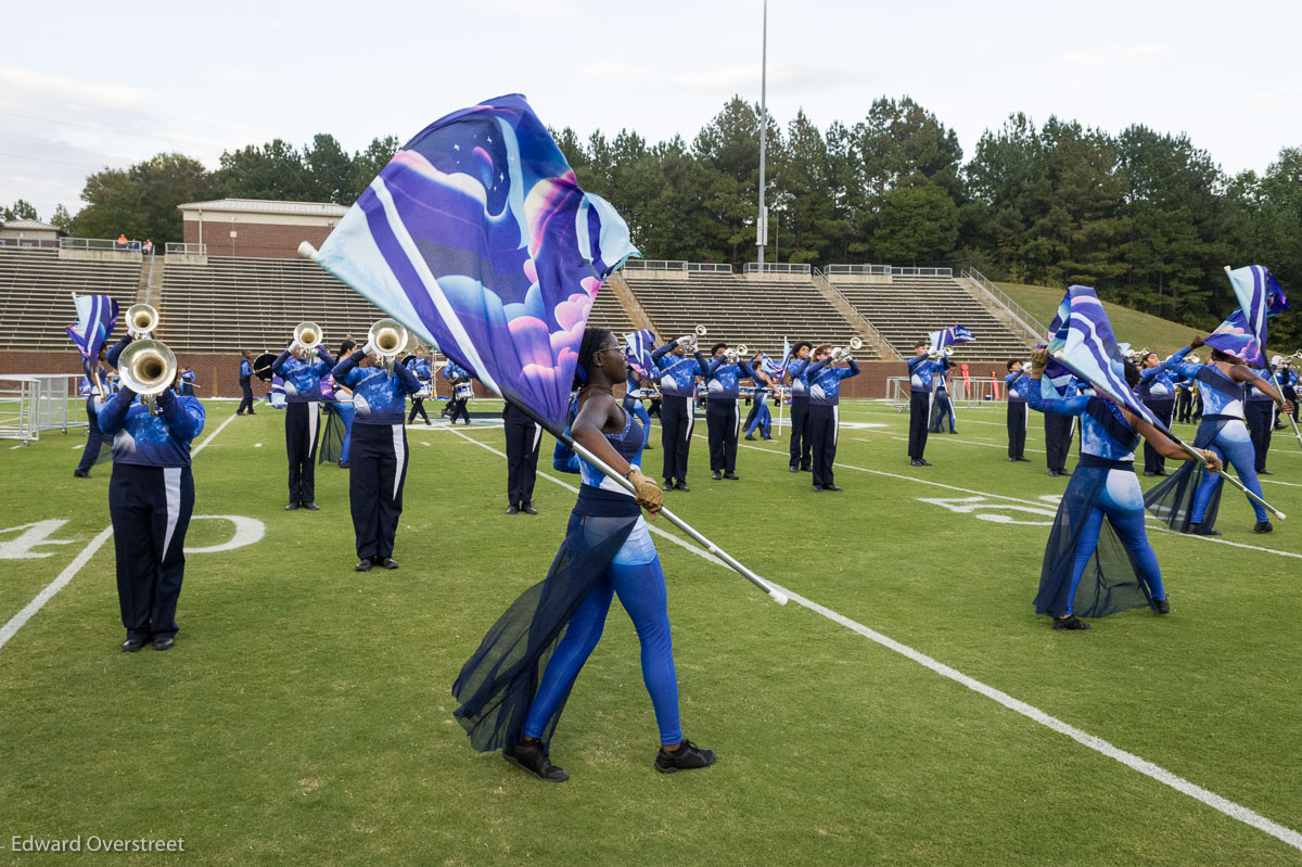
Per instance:
[[[660,730],[656,771],[673,773],[715,763],[713,750],[702,750],[682,736],[664,570],[641,514],[646,508],[654,518],[664,495],[638,467],[642,432],[612,391],[622,378],[624,358],[615,335],[587,328],[575,368],[579,393],[570,432],[622,473],[637,496],[557,441],[553,465],[579,473],[583,480],[565,542],[547,578],[525,591],[488,630],[452,690],[461,700],[456,716],[477,750],[505,747],[506,762],[547,782],[569,778],[549,759],[551,737],[583,663],[602,638],[616,594],[642,646],[642,677]],[[539,677],[539,663],[553,644]]]

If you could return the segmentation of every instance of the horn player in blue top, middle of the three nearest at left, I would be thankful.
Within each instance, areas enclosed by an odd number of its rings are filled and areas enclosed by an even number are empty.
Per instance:
[[[285,512],[302,506],[310,512],[316,505],[316,404],[322,398],[322,379],[329,374],[335,359],[324,346],[301,348],[297,341],[272,363],[271,370],[285,383],[285,452],[289,454],[289,505]],[[316,358],[312,358],[312,355]]]

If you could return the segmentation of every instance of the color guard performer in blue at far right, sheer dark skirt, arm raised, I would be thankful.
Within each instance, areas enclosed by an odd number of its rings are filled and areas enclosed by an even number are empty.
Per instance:
[[[1253,374],[1234,355],[1213,349],[1211,361],[1206,365],[1186,365],[1181,361],[1202,345],[1202,337],[1194,337],[1189,346],[1163,363],[1167,370],[1198,381],[1204,413],[1194,437],[1194,447],[1215,452],[1221,463],[1234,467],[1243,487],[1260,497],[1262,483],[1256,479],[1253,441],[1243,423],[1243,384],[1249,383],[1269,394],[1285,413],[1293,411],[1293,404],[1284,400],[1273,385]],[[1174,529],[1202,536],[1219,536],[1220,531],[1213,526],[1220,506],[1221,478],[1219,474],[1202,471],[1194,487],[1197,470],[1198,467],[1186,463],[1178,473],[1150,491],[1147,501],[1150,506],[1159,505],[1159,513],[1165,516],[1164,519]],[[1256,516],[1253,530],[1271,532],[1275,526],[1266,506],[1251,497],[1249,502]]]

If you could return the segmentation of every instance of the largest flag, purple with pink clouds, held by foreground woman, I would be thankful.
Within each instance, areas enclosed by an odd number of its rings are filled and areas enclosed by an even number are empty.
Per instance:
[[[430,124],[314,258],[560,430],[592,301],[638,255],[519,94]]]

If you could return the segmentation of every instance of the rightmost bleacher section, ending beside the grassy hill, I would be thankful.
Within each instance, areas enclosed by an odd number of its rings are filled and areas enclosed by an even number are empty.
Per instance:
[[[960,324],[976,340],[954,350],[954,361],[1022,358],[1031,345],[957,281],[947,277],[893,277],[868,282],[832,277],[833,285],[905,358],[928,332]]]

